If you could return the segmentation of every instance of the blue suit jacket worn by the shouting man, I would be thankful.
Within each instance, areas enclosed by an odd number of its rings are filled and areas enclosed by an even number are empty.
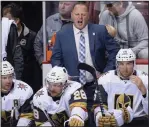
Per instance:
[[[115,57],[119,45],[108,34],[104,25],[88,24],[89,45],[93,64],[97,71],[106,72],[115,69]],[[106,59],[105,53],[108,53]],[[66,24],[56,33],[56,42],[51,58],[52,66],[66,67],[70,76],[78,76],[78,54],[73,31],[73,24]]]

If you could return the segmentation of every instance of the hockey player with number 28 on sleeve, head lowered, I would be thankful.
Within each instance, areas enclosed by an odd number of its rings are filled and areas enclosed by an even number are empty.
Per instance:
[[[81,84],[69,81],[66,69],[58,66],[51,69],[45,82],[33,97],[36,126],[83,127],[88,114]]]

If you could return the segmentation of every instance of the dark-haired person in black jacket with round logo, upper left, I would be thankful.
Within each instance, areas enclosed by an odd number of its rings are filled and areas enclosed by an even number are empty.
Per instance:
[[[9,19],[15,20],[17,24],[18,43],[21,45],[24,58],[22,81],[28,83],[36,92],[42,84],[42,71],[34,56],[33,43],[36,33],[27,28],[22,22],[23,10],[19,5],[15,3],[6,5],[3,14]]]

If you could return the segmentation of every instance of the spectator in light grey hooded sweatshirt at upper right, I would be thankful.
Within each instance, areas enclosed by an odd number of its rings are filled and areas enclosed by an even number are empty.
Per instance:
[[[117,29],[116,40],[121,48],[132,48],[137,58],[148,58],[148,27],[142,14],[132,2],[106,2],[108,10],[100,16],[99,24]]]

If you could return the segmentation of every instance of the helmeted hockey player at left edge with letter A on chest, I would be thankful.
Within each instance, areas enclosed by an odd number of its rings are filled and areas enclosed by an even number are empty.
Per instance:
[[[32,88],[14,79],[14,68],[3,61],[1,73],[1,125],[2,127],[28,126],[33,119],[31,109]]]

